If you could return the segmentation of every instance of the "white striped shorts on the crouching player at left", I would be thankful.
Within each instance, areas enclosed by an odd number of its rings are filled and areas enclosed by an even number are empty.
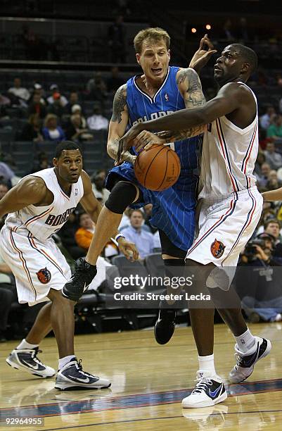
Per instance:
[[[48,301],[49,290],[63,289],[71,277],[70,266],[53,239],[40,242],[28,230],[2,227],[0,254],[13,271],[20,304]]]

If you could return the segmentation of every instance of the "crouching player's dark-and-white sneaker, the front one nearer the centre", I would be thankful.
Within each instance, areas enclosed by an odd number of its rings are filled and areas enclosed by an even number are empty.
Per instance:
[[[79,362],[73,357],[63,368],[58,371],[56,377],[56,389],[60,391],[77,389],[104,389],[110,387],[110,380],[101,379],[82,370],[82,360]]]

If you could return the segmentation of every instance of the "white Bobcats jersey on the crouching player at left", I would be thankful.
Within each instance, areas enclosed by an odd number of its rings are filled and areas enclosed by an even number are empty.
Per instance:
[[[79,180],[72,184],[71,193],[68,196],[60,188],[53,168],[39,170],[29,176],[44,180],[46,187],[53,193],[53,202],[48,206],[29,205],[15,213],[10,213],[5,224],[11,230],[24,235],[31,233],[33,237],[44,242],[59,230],[72,211],[75,211],[84,194],[82,178],[79,177]]]

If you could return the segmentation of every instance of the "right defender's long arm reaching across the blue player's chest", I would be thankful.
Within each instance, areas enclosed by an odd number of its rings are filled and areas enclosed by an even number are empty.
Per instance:
[[[204,106],[200,106],[200,108],[181,109],[156,120],[137,123],[120,139],[118,156],[123,157],[124,151],[127,151],[132,146],[133,139],[143,130],[155,132],[171,130],[172,132],[177,132],[178,130],[188,130],[191,127],[207,125],[217,118],[235,111],[245,102],[245,88],[242,89],[238,82],[229,82],[219,90],[214,99],[208,101]]]

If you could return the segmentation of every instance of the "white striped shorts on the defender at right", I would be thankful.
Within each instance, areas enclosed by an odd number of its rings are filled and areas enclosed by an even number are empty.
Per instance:
[[[203,265],[236,267],[241,251],[259,223],[262,202],[257,187],[212,204],[201,199],[199,234],[186,259]]]

